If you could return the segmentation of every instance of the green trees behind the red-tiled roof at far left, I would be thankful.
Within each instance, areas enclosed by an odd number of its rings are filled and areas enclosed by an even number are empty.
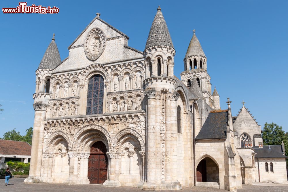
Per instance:
[[[4,133],[3,138],[5,140],[13,140],[13,141],[25,141],[32,145],[32,135],[33,135],[33,127],[26,129],[26,135],[20,135],[20,132],[16,131],[15,128],[11,131]]]

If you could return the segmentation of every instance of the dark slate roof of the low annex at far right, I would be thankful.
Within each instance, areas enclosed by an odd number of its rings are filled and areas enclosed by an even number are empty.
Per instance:
[[[253,149],[257,158],[288,158],[283,153],[282,145],[263,145],[263,148],[255,146]]]

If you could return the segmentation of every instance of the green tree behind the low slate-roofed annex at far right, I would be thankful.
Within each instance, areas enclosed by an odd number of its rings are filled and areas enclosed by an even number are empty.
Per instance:
[[[263,145],[281,145],[284,140],[285,132],[282,126],[276,123],[265,123],[262,133]]]

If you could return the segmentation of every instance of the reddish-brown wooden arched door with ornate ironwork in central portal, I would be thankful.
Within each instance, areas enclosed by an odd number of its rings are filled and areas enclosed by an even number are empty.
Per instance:
[[[95,142],[90,149],[88,179],[90,184],[103,184],[107,179],[107,149],[102,141]]]

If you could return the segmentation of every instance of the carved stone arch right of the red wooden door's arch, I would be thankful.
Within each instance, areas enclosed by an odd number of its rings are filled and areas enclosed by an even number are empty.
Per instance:
[[[115,135],[112,145],[113,149],[115,151],[119,151],[121,143],[129,137],[134,138],[138,142],[139,146],[141,147],[140,151],[145,151],[145,144],[141,134],[131,128],[122,129]]]

